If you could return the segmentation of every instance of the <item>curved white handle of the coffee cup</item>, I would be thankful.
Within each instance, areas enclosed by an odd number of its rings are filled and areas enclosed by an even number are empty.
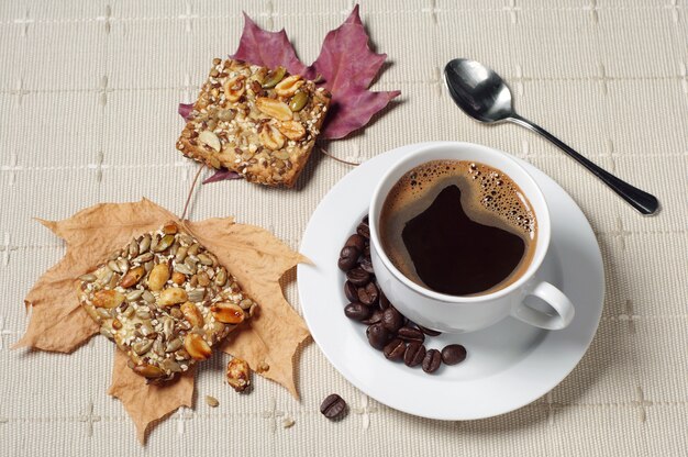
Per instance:
[[[574,303],[570,302],[564,292],[550,282],[541,281],[523,299],[525,300],[529,296],[537,297],[543,300],[555,313],[548,314],[535,310],[521,301],[511,311],[511,315],[519,321],[546,330],[566,328],[568,324],[570,324],[570,321],[573,321],[575,314]]]

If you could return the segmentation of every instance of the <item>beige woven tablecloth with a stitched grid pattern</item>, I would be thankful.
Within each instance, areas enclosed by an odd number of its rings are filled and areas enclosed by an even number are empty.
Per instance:
[[[10,350],[22,299],[64,245],[32,218],[64,219],[98,202],[148,197],[179,211],[196,165],[176,153],[177,102],[190,101],[214,56],[232,53],[242,10],[288,31],[302,59],[351,1],[21,0],[0,4],[0,454],[668,456],[688,453],[688,33],[683,0],[362,1],[389,66],[375,81],[402,96],[362,133],[323,143],[365,160],[413,142],[460,140],[522,157],[552,176],[589,218],[607,272],[604,311],[580,365],[513,413],[436,422],[384,406],[352,387],[314,344],[300,354],[302,401],[255,380],[248,395],[220,381],[226,359],[198,376],[196,408],[147,447],[106,394],[113,348]],[[442,68],[470,56],[510,82],[519,111],[612,172],[652,190],[642,218],[534,134],[470,121]],[[191,218],[233,214],[297,248],[318,202],[349,168],[315,157],[299,189],[224,182],[202,188]],[[288,296],[300,311],[296,288]],[[351,414],[319,413],[340,392]],[[220,408],[202,401],[212,394]],[[296,422],[282,427],[282,420]]]

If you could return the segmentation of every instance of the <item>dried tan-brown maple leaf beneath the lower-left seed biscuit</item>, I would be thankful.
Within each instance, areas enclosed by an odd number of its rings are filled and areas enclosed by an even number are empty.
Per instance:
[[[173,213],[146,199],[135,203],[98,204],[64,221],[41,221],[65,239],[67,252],[26,296],[32,316],[14,347],[70,353],[84,344],[98,332],[98,325],[79,305],[76,278],[92,270],[132,237],[154,231],[170,220],[186,225],[262,305],[259,317],[253,325],[234,332],[236,336],[223,350],[245,358],[254,367],[260,361],[268,363],[270,369],[262,375],[297,395],[293,354],[308,331],[285,300],[279,279],[306,258],[263,228],[234,224],[231,218],[181,223]],[[164,386],[146,384],[126,367],[126,356],[115,352],[109,393],[122,401],[143,443],[152,422],[179,406],[191,406],[193,375],[185,374]]]

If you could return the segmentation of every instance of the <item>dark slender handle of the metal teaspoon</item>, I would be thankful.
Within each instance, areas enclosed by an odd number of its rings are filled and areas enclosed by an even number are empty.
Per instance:
[[[507,120],[510,122],[513,122],[514,124],[519,124],[521,126],[530,129],[533,132],[536,132],[541,134],[542,136],[544,136],[545,138],[550,140],[552,143],[558,146],[559,149],[564,151],[566,154],[568,154],[569,156],[578,160],[580,165],[582,165],[588,170],[590,170],[595,176],[600,178],[602,182],[609,186],[614,192],[617,192],[622,199],[629,202],[631,207],[635,208],[642,214],[645,214],[645,215],[654,214],[657,211],[657,209],[659,209],[659,202],[654,196],[643,190],[640,190],[639,188],[633,187],[625,181],[622,181],[621,179],[617,178],[614,175],[610,174],[609,171],[598,167],[596,164],[593,164],[592,161],[588,160],[587,158],[585,158],[584,156],[581,156],[580,154],[578,154],[577,152],[568,147],[559,138],[557,138],[556,136],[554,136],[553,134],[551,134],[550,132],[541,127],[540,125],[529,121],[528,119],[521,118],[518,114],[513,114],[511,118],[508,118]]]

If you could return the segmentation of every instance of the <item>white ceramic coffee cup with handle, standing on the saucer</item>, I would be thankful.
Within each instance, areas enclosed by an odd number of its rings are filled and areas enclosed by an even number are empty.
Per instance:
[[[535,252],[528,269],[503,289],[474,297],[435,292],[403,276],[382,249],[379,218],[387,194],[407,171],[426,161],[442,159],[470,160],[496,168],[509,176],[531,203],[537,220]],[[368,214],[370,257],[377,282],[395,308],[417,324],[440,332],[464,333],[485,328],[511,315],[541,328],[559,330],[574,319],[570,300],[550,282],[537,279],[552,230],[545,198],[529,172],[507,154],[470,143],[446,142],[419,147],[381,177]]]

